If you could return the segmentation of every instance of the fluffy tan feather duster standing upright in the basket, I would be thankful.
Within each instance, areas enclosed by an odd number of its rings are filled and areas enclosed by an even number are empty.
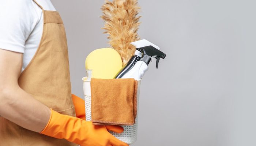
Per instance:
[[[125,65],[135,52],[135,47],[130,42],[138,41],[137,34],[141,16],[137,16],[140,7],[138,0],[105,0],[102,6],[105,21],[103,33],[109,34],[109,44],[120,54]]]

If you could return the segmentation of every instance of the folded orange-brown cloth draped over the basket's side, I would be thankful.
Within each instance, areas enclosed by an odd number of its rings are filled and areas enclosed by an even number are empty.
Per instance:
[[[91,78],[91,120],[94,125],[133,125],[137,115],[138,81],[134,78]]]

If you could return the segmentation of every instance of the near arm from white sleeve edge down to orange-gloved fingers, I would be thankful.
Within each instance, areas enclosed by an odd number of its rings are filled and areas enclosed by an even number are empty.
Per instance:
[[[128,146],[108,132],[121,133],[123,127],[93,125],[91,121],[59,114],[23,91],[18,85],[22,58],[22,53],[0,49],[1,116],[31,131],[80,146]]]

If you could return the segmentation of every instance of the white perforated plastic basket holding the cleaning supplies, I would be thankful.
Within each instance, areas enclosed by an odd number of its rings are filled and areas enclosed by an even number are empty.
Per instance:
[[[83,77],[83,91],[84,91],[84,100],[85,100],[85,111],[86,111],[86,120],[91,121],[91,82],[86,80],[86,77]],[[137,90],[137,116],[135,119],[135,124],[122,126],[124,132],[116,133],[109,131],[114,137],[119,140],[128,143],[131,145],[137,140],[138,133],[138,115],[139,115],[139,95],[140,95],[140,80],[138,80],[138,90]]]

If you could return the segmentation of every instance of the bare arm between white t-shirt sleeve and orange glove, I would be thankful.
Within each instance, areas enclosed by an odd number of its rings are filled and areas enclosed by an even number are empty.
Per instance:
[[[0,49],[0,115],[35,132],[41,132],[50,118],[50,109],[18,85],[22,53]]]

